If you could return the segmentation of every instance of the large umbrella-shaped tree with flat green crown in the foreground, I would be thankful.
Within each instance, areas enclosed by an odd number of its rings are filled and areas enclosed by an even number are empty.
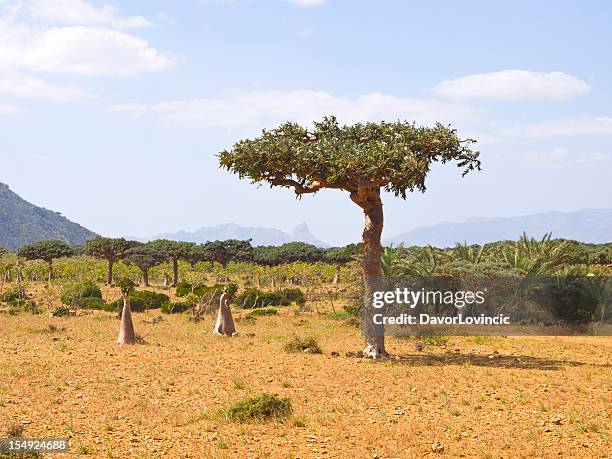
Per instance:
[[[298,197],[324,188],[347,191],[365,215],[363,328],[365,357],[386,356],[384,328],[374,323],[372,293],[380,286],[383,206],[381,189],[402,199],[424,192],[435,162],[456,161],[463,175],[480,169],[475,141],[461,140],[448,126],[417,127],[414,123],[358,123],[340,126],[323,118],[314,129],[287,122],[241,140],[219,154],[222,168],[253,183],[293,188]]]

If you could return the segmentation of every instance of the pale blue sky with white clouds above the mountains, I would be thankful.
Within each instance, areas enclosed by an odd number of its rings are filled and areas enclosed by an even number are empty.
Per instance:
[[[346,194],[296,201],[215,154],[291,119],[451,123],[483,171],[385,197],[385,235],[612,207],[606,1],[0,0],[0,181],[109,235],[236,222],[358,240]]]

